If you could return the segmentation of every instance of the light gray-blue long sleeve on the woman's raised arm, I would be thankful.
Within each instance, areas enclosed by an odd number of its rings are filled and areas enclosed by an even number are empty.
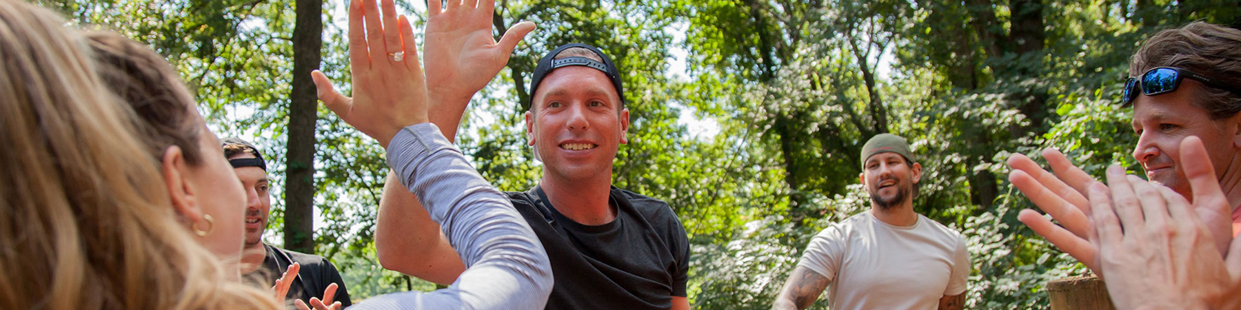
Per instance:
[[[551,293],[547,253],[503,192],[431,123],[401,129],[388,166],[439,223],[465,272],[447,289],[370,298],[350,309],[542,309]]]

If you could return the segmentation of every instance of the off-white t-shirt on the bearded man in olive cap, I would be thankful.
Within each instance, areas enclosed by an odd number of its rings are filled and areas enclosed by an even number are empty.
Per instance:
[[[828,278],[833,310],[928,309],[965,291],[969,252],[961,233],[918,215],[884,223],[870,211],[814,236],[798,265]]]

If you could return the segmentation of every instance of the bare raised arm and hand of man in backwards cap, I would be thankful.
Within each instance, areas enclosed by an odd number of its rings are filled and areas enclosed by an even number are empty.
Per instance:
[[[465,108],[474,93],[500,72],[514,47],[535,25],[514,25],[495,42],[491,37],[494,1],[427,2],[423,56],[431,99],[428,120],[454,140]],[[449,284],[465,265],[453,252],[439,224],[405,190],[396,175],[388,175],[380,201],[375,247],[383,268]]]

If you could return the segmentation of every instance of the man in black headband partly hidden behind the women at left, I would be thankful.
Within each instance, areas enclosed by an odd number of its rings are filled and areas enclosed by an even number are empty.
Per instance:
[[[225,157],[232,164],[233,172],[246,188],[246,246],[242,249],[241,273],[249,283],[263,288],[276,284],[284,270],[294,263],[299,264],[297,277],[292,278],[288,286],[288,301],[300,299],[309,305],[311,298],[324,299],[328,286],[336,284],[334,296],[329,300],[340,301],[349,306],[349,290],[345,281],[336,272],[336,267],[328,259],[298,253],[288,249],[272,247],[263,242],[263,231],[267,229],[267,218],[272,210],[272,200],[268,195],[271,180],[267,179],[267,162],[254,145],[237,138],[228,138],[221,141],[225,149]],[[331,304],[329,301],[328,304]],[[293,304],[285,303],[289,309]]]

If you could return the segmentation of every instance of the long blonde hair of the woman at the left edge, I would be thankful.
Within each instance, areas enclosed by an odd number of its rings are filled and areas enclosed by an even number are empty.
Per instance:
[[[176,222],[81,35],[0,0],[0,309],[278,309]]]

